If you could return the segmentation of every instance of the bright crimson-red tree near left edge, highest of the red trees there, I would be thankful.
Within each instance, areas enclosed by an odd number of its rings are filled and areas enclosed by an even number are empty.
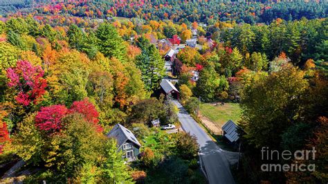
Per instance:
[[[44,70],[41,66],[33,66],[28,61],[18,61],[17,66],[7,69],[8,86],[17,89],[17,103],[28,106],[37,101],[46,93],[47,86]]]

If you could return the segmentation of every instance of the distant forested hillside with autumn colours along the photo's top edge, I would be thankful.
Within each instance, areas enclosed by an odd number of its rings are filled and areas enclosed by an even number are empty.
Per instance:
[[[36,5],[37,3],[37,5]],[[2,14],[35,12],[38,14],[69,14],[77,17],[106,19],[107,17],[138,17],[145,20],[171,19],[174,22],[236,21],[237,23],[266,24],[273,19],[286,21],[325,18],[327,2],[292,1],[281,3],[234,1],[9,1],[3,2]],[[1,3],[0,3],[1,7]],[[9,8],[6,10],[6,8]],[[22,9],[21,9],[22,8]],[[21,10],[19,10],[21,9]]]

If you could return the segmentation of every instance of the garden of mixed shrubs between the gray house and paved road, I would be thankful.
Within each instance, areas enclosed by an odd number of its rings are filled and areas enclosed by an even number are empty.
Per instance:
[[[140,126],[140,125],[134,125]],[[143,125],[141,125],[143,126]],[[140,130],[140,129],[138,129]],[[198,163],[196,138],[186,133],[167,134],[152,127],[139,136],[140,159],[131,163],[137,183],[206,183]]]

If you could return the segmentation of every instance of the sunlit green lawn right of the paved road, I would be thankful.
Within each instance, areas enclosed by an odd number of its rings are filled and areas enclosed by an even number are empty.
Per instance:
[[[200,111],[201,115],[215,122],[219,127],[228,120],[237,122],[242,113],[238,103],[224,103],[224,105],[201,103]]]

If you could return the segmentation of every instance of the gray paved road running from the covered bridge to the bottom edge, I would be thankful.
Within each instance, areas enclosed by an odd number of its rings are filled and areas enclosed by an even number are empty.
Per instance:
[[[179,108],[178,117],[183,130],[197,137],[209,183],[235,183],[224,151],[199,127],[178,101],[173,102]]]

